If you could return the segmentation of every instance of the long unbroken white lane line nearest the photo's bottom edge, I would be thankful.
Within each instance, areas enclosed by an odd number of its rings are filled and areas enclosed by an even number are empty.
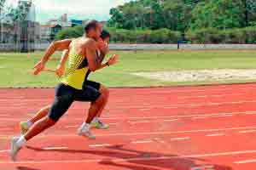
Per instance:
[[[207,154],[191,154],[183,156],[158,156],[158,157],[137,157],[127,159],[111,159],[113,162],[124,161],[150,161],[150,160],[168,160],[173,158],[200,158],[200,157],[216,157],[216,156],[237,156],[244,154],[255,154],[256,150],[239,150],[239,151],[227,151],[227,152],[215,152]],[[45,163],[87,163],[87,162],[100,162],[102,159],[94,160],[61,160],[61,161],[0,161],[0,164],[45,164]],[[237,161],[239,162],[239,161]]]

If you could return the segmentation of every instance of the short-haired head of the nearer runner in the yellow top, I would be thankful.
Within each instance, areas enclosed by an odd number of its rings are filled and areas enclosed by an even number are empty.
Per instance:
[[[92,37],[98,40],[102,34],[102,25],[97,20],[89,20],[84,26],[84,31],[87,37]]]

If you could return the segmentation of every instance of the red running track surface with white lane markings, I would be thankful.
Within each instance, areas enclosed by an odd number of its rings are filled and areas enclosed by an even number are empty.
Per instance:
[[[76,135],[88,103],[74,103],[55,127],[10,161],[18,123],[51,103],[54,89],[0,89],[1,170],[254,170],[256,84],[113,88],[95,140]]]

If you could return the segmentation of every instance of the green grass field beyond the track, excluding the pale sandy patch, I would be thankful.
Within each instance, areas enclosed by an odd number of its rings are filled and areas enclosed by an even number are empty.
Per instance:
[[[225,82],[160,82],[130,75],[137,71],[181,71],[202,69],[256,68],[256,51],[119,51],[118,65],[92,73],[90,80],[108,87],[148,87],[195,85]],[[54,87],[58,78],[53,73],[32,76],[32,66],[43,52],[34,54],[0,53],[0,87]],[[54,54],[48,68],[54,69],[61,53]],[[246,82],[244,80],[230,82]],[[228,82],[228,83],[230,83]],[[252,82],[252,81],[251,81]],[[256,78],[255,78],[256,82]]]

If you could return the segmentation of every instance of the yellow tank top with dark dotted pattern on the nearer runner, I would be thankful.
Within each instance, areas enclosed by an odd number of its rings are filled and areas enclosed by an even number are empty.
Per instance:
[[[76,40],[74,40],[76,41]],[[81,90],[83,88],[84,77],[88,67],[79,69],[84,57],[77,54],[75,44],[72,44],[68,54],[68,65],[65,70],[65,76],[61,78],[61,82],[73,88]]]

